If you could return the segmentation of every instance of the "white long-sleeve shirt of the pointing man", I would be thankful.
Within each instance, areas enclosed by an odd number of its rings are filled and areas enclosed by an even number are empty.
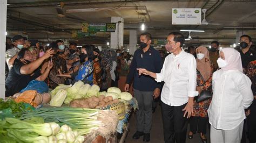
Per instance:
[[[184,50],[178,55],[168,55],[156,81],[165,82],[161,92],[162,102],[170,106],[187,103],[188,97],[198,95],[196,59]]]

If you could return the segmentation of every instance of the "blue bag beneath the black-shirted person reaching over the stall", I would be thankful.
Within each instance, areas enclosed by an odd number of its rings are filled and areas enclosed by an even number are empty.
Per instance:
[[[36,90],[39,94],[49,91],[48,85],[44,81],[32,80],[29,82],[28,86],[21,90],[24,92],[26,90]]]

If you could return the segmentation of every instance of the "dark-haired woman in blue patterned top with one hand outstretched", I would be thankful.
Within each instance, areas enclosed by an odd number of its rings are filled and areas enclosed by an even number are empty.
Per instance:
[[[59,69],[59,75],[61,77],[68,77],[75,79],[73,82],[83,81],[84,83],[93,84],[93,46],[85,45],[81,49],[82,54],[80,54],[80,66],[79,70],[75,74],[63,74],[63,71]]]

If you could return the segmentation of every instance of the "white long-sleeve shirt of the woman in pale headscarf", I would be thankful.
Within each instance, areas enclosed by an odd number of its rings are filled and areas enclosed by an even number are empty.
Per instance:
[[[245,118],[245,109],[253,101],[251,80],[238,70],[215,71],[213,97],[208,109],[210,124],[221,130],[232,130]]]

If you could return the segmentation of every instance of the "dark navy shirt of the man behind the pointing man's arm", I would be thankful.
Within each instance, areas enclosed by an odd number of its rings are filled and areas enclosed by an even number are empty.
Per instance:
[[[137,49],[134,52],[133,59],[130,65],[130,71],[126,78],[126,83],[133,82],[133,88],[139,91],[154,91],[161,87],[161,83],[157,83],[153,77],[148,75],[140,75],[137,68],[145,68],[153,73],[160,73],[163,64],[161,62],[160,53],[150,46],[147,52],[142,49]]]

